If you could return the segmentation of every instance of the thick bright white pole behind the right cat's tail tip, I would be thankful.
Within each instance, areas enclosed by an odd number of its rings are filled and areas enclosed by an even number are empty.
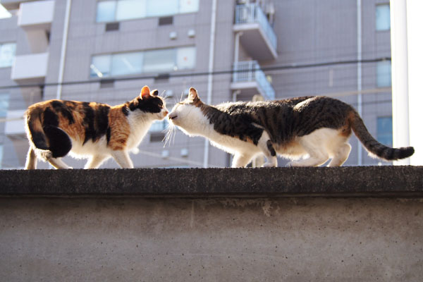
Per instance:
[[[391,0],[392,135],[393,147],[410,145],[408,123],[407,1]],[[410,164],[410,159],[394,161]]]

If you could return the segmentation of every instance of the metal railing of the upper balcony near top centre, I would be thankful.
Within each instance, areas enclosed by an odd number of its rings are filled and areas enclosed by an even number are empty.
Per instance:
[[[262,8],[257,3],[237,5],[235,7],[235,24],[242,23],[259,23],[265,35],[269,38],[271,46],[276,49],[276,34],[266,15],[264,15]]]

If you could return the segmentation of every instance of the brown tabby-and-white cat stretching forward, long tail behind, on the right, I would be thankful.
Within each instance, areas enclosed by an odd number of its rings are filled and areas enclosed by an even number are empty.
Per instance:
[[[247,166],[257,154],[266,156],[264,166],[277,166],[276,154],[291,159],[288,166],[320,166],[328,159],[328,166],[341,166],[350,154],[351,130],[372,157],[391,161],[414,153],[413,147],[393,149],[377,142],[352,106],[329,97],[210,106],[191,87],[168,118],[187,135],[207,137],[233,154],[232,167]]]

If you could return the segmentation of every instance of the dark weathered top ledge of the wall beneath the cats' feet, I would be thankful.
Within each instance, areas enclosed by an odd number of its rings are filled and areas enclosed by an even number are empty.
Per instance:
[[[1,195],[423,197],[423,166],[1,171]]]

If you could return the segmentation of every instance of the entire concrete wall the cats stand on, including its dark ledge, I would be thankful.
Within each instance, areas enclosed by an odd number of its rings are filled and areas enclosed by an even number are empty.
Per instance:
[[[0,171],[1,281],[422,281],[422,173]]]

